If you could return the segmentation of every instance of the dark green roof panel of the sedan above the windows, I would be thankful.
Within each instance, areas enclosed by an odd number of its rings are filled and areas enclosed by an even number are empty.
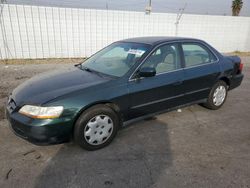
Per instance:
[[[150,37],[129,38],[129,39],[121,40],[120,42],[135,42],[135,43],[144,43],[144,44],[150,44],[150,45],[158,45],[164,42],[183,41],[183,40],[200,41],[199,39],[187,38],[187,37],[150,36]]]

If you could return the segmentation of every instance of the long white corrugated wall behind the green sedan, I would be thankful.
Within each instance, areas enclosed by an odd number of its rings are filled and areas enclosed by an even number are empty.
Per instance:
[[[114,41],[175,36],[176,14],[5,4],[0,58],[90,56]],[[250,17],[184,14],[178,36],[200,38],[221,52],[250,51]]]

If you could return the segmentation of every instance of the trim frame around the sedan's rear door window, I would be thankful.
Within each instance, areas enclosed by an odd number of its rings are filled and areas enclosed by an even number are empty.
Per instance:
[[[183,50],[183,47],[182,47],[182,45],[184,45],[184,44],[194,44],[194,45],[200,46],[201,48],[206,50],[208,53],[212,54],[215,57],[216,60],[215,61],[210,61],[210,62],[207,62],[207,63],[200,63],[200,64],[197,64],[197,65],[192,65],[192,66],[187,67],[186,66],[186,60],[185,60],[185,55],[184,55],[184,50]],[[193,68],[193,67],[209,65],[209,64],[212,64],[212,63],[219,62],[218,56],[213,52],[213,50],[211,50],[211,48],[208,45],[204,44],[203,42],[197,42],[197,41],[181,42],[180,43],[180,48],[181,48],[181,53],[182,53],[182,57],[183,57],[183,66],[184,66],[183,69],[189,69],[189,68]]]

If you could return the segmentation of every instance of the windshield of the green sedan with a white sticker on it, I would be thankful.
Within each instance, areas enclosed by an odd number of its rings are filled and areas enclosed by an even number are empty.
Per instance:
[[[110,76],[121,77],[149,47],[150,45],[139,43],[113,43],[87,59],[82,67]]]

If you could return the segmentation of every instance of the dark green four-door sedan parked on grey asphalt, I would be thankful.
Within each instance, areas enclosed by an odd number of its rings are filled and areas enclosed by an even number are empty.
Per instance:
[[[125,39],[19,85],[6,116],[14,133],[34,144],[73,139],[97,150],[133,121],[192,104],[219,109],[241,84],[242,69],[239,57],[199,39]]]

